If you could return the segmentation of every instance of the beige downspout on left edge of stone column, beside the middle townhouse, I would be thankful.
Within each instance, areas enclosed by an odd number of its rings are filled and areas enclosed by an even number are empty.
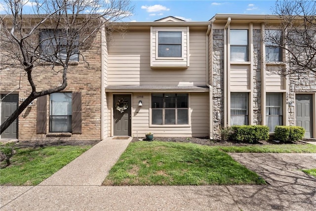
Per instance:
[[[212,24],[212,22],[211,22]],[[213,87],[209,84],[209,33],[211,32],[211,24],[207,26],[206,32],[206,85],[209,88],[209,139],[213,140]],[[213,72],[213,71],[212,71]]]

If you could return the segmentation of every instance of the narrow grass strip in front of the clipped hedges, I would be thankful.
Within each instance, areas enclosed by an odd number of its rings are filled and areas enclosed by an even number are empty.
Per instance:
[[[275,144],[254,146],[214,146],[224,152],[239,153],[316,153],[316,145],[312,144]]]

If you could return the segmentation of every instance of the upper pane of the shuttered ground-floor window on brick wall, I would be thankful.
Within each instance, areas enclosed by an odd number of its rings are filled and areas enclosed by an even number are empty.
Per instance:
[[[70,92],[50,95],[50,115],[72,115],[72,94]]]

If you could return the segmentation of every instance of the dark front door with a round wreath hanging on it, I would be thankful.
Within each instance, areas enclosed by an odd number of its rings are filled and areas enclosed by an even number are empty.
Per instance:
[[[113,95],[113,135],[130,136],[131,135],[131,95],[114,94]]]

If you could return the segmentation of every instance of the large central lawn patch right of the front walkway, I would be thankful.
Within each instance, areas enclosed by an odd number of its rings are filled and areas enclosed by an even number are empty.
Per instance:
[[[192,143],[129,144],[104,185],[265,184],[220,150]]]

